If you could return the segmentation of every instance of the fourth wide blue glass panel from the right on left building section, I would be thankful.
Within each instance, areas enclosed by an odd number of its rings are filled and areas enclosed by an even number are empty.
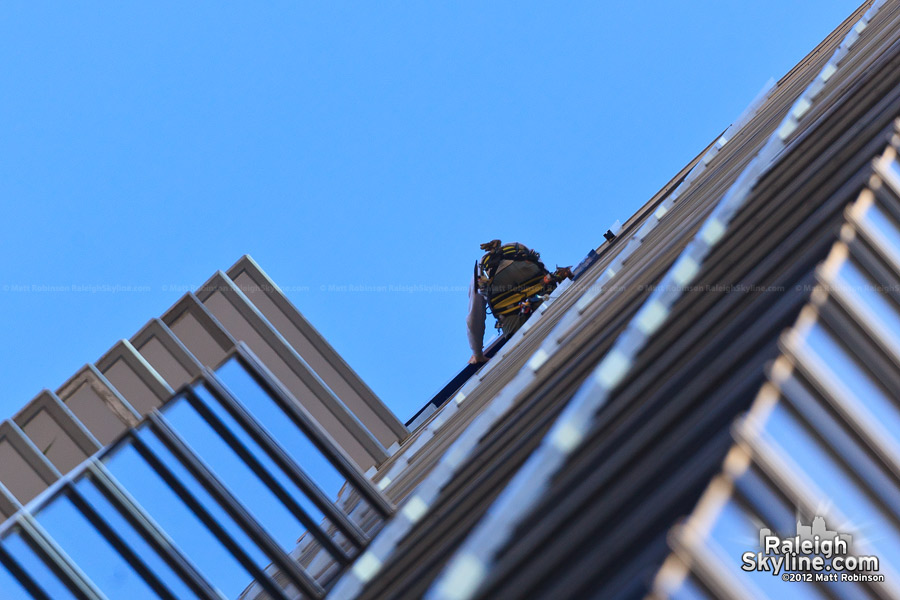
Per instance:
[[[122,555],[85,518],[66,495],[36,515],[37,521],[88,578],[109,598],[158,598]]]

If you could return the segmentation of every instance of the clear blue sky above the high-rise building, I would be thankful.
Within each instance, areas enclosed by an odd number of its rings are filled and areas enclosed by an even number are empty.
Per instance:
[[[405,420],[857,5],[4,2],[0,418],[247,253]]]

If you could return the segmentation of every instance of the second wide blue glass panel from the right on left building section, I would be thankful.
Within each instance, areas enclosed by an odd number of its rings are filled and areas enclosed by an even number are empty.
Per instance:
[[[305,527],[194,407],[180,398],[166,407],[164,416],[272,539],[293,549]]]

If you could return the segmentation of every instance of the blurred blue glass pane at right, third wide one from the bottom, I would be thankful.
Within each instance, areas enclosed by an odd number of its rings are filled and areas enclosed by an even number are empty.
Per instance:
[[[806,336],[806,344],[835,373],[846,390],[868,408],[872,416],[884,425],[885,431],[900,443],[900,407],[844,350],[831,332],[816,323]]]

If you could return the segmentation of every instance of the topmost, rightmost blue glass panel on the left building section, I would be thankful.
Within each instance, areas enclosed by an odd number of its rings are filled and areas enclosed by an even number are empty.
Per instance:
[[[325,492],[328,498],[337,499],[344,477],[297,428],[291,418],[253,380],[237,359],[231,359],[219,367],[216,375],[225,383],[232,395],[256,417],[274,439],[293,457],[306,473]]]

